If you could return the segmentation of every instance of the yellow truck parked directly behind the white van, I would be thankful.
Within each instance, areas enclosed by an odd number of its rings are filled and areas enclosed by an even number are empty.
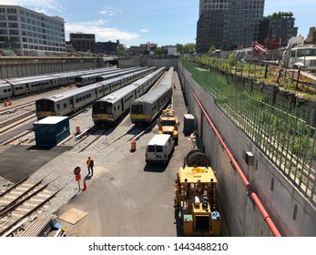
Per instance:
[[[173,109],[165,109],[162,111],[158,119],[158,134],[168,134],[178,145],[178,117]]]

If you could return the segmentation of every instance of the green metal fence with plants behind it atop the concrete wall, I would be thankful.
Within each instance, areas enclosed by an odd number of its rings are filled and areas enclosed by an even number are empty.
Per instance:
[[[302,107],[300,97],[277,104],[275,93],[253,89],[253,79],[240,80],[189,61],[183,65],[218,107],[316,205],[315,104]]]

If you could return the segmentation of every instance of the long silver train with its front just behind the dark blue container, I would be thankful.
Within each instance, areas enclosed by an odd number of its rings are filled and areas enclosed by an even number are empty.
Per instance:
[[[36,117],[41,119],[48,116],[66,116],[91,104],[97,98],[105,97],[107,94],[127,86],[130,81],[138,76],[146,76],[155,70],[155,66],[140,70],[126,76],[119,76],[86,87],[78,87],[73,90],[59,93],[51,97],[36,100]]]

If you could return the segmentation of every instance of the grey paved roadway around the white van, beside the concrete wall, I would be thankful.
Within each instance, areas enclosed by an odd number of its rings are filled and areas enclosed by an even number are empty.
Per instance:
[[[168,166],[153,167],[145,162],[146,144],[157,133],[157,128],[154,128],[137,143],[136,152],[128,153],[113,168],[99,167],[101,176],[91,185],[88,184],[87,190],[56,211],[58,216],[73,208],[87,212],[87,216],[76,224],[58,220],[66,227],[67,236],[174,237],[180,234],[173,208],[173,185],[190,143],[182,133],[183,115],[187,109],[178,78],[174,90],[174,107],[180,121],[179,142]],[[107,160],[110,160],[108,157]]]

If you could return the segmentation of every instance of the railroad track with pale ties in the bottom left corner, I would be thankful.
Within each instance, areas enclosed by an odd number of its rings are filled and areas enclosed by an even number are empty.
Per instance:
[[[28,178],[15,184],[0,194],[0,236],[10,236],[21,228],[22,223],[40,215],[49,205],[56,192],[48,189],[43,180],[31,184]]]

